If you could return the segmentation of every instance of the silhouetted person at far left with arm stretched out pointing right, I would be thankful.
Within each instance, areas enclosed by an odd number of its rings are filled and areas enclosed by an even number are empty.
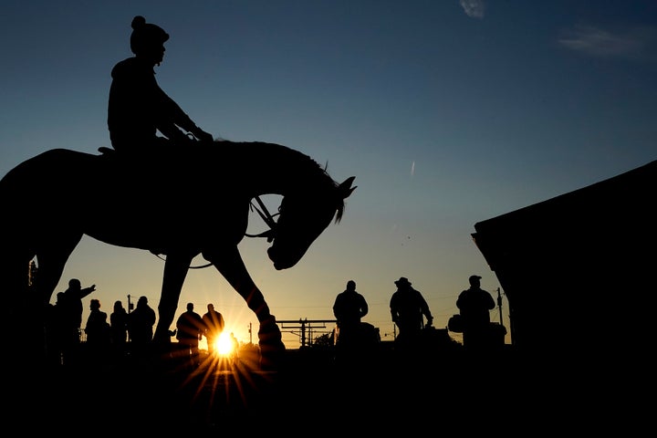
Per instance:
[[[60,319],[61,346],[63,362],[72,365],[78,360],[80,348],[80,327],[82,325],[82,298],[96,290],[96,285],[82,288],[78,278],[68,281],[68,288],[61,296],[61,311],[57,309]],[[57,307],[59,299],[57,299]]]

